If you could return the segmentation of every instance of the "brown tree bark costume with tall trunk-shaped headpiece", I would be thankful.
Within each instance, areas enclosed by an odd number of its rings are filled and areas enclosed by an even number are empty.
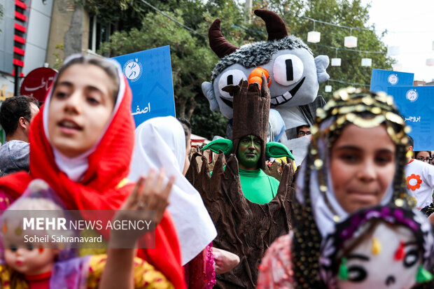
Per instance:
[[[234,93],[234,151],[239,139],[253,134],[262,140],[260,167],[265,168],[265,138],[267,134],[269,93],[266,82],[262,92],[257,83],[231,86]],[[238,111],[239,109],[239,111]],[[235,116],[237,115],[237,116]],[[202,167],[197,165],[202,157]],[[290,208],[293,198],[293,167],[285,164],[276,197],[268,204],[248,201],[241,191],[238,161],[228,157],[223,169],[224,155],[220,153],[209,176],[207,157],[195,153],[186,177],[202,195],[218,236],[216,248],[239,255],[240,263],[231,272],[217,276],[216,288],[255,288],[258,266],[265,251],[277,237],[290,229]],[[267,169],[265,169],[267,172]],[[258,188],[260,190],[260,188]]]

